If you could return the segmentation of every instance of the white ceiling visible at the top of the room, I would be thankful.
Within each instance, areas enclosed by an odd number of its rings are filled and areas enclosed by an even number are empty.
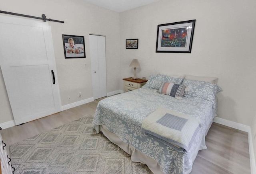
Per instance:
[[[84,0],[91,4],[113,10],[115,12],[124,12],[132,8],[137,8],[150,4],[152,2],[157,2],[159,0]]]

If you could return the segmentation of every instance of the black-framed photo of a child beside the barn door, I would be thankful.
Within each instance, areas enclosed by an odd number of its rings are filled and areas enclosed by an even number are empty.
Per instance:
[[[62,35],[65,59],[85,58],[84,36]]]

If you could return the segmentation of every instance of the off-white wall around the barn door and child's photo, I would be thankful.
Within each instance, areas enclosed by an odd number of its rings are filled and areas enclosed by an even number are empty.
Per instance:
[[[106,35],[107,92],[119,90],[119,78],[113,78],[119,71],[120,65],[118,13],[83,0],[0,0],[0,4],[2,11],[38,17],[45,14],[46,18],[65,22],[48,22],[52,28],[62,106],[92,98],[89,33]],[[85,59],[64,59],[62,34],[84,36]],[[79,98],[79,92],[82,93],[81,98]],[[13,120],[1,71],[0,98],[0,123]]]

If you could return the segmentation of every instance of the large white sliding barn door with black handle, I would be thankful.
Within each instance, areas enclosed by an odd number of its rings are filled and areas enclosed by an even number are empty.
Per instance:
[[[50,26],[0,16],[0,65],[16,125],[60,111]]]

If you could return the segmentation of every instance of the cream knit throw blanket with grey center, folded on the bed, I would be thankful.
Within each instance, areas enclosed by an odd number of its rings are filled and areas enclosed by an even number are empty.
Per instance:
[[[142,131],[188,151],[201,124],[189,115],[158,108],[142,121]]]

